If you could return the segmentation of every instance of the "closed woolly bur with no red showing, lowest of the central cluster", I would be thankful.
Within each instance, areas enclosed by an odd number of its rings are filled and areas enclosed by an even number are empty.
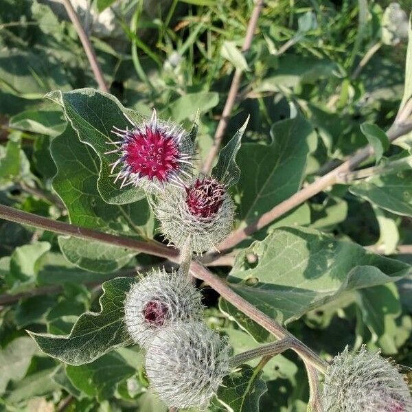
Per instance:
[[[229,373],[229,354],[226,341],[204,323],[177,322],[150,343],[146,374],[169,407],[206,407]]]

